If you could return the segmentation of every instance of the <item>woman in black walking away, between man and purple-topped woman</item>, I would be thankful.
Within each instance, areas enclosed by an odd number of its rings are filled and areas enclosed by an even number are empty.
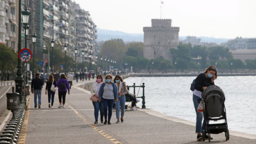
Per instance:
[[[50,75],[48,81],[46,82],[46,87],[45,87],[45,95],[46,95],[47,92],[48,92],[48,103],[49,103],[49,104],[48,104],[48,107],[49,107],[49,108],[52,108],[53,103],[54,103],[54,95],[55,95],[55,92],[51,91],[52,84],[53,84],[55,87],[57,87],[57,83],[56,83],[56,81],[54,80],[54,76],[53,76],[53,75]]]

